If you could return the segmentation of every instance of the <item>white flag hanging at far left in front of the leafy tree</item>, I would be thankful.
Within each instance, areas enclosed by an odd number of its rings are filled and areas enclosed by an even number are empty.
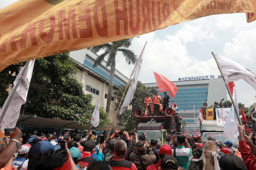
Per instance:
[[[5,128],[13,128],[15,127],[17,120],[19,118],[20,115],[20,108],[21,105],[24,105],[26,102],[26,97],[29,91],[29,84],[30,84],[30,80],[31,80],[31,76],[32,76],[32,72],[33,72],[33,68],[34,68],[34,63],[35,63],[35,59],[27,61],[26,65],[21,68],[19,74],[17,75],[15,81],[13,82],[14,86],[12,88],[11,93],[9,94],[9,96],[7,97],[6,101],[3,104],[3,107],[0,111],[0,115],[2,116],[3,110],[5,110],[6,107],[7,111],[6,114],[3,116],[3,120],[1,122],[1,130],[3,131]],[[24,68],[26,68],[25,72]],[[23,74],[23,76],[22,76]],[[18,80],[21,79],[20,83],[17,84]],[[14,91],[15,86],[17,87],[17,90]],[[11,102],[10,104],[7,106],[7,102],[9,100],[9,98],[12,96]]]

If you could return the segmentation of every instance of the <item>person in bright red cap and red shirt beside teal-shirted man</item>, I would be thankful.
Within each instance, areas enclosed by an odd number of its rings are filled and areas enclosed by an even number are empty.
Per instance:
[[[159,167],[161,166],[161,161],[162,161],[163,157],[167,156],[167,155],[172,155],[172,147],[168,144],[165,144],[162,147],[160,147],[160,151],[158,154],[158,156],[159,156],[158,163],[149,165],[146,170],[159,170]]]

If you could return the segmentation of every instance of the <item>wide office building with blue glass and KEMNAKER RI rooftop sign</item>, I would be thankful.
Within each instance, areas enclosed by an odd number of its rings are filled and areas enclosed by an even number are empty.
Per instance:
[[[192,80],[193,79],[193,80]],[[177,93],[174,98],[179,114],[182,116],[182,121],[186,121],[185,130],[199,130],[199,125],[196,125],[195,119],[198,116],[201,106],[204,102],[208,103],[208,107],[214,105],[214,102],[220,102],[221,99],[227,100],[227,89],[221,76],[215,78],[213,75],[198,77],[179,78],[180,81],[173,81],[177,86]],[[157,83],[146,83],[148,87],[157,87]],[[164,96],[163,92],[159,95]],[[169,91],[166,91],[170,96]],[[171,96],[170,96],[171,97]],[[195,109],[194,109],[195,103]],[[195,111],[195,119],[194,119]]]

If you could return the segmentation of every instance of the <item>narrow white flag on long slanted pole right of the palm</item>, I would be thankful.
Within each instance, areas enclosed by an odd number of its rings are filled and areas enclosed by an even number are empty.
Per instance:
[[[128,91],[127,91],[124,102],[123,102],[122,107],[120,109],[120,112],[119,112],[120,115],[125,111],[126,107],[131,103],[131,100],[134,96],[136,86],[137,86],[137,82],[138,82],[138,77],[139,77],[139,74],[140,74],[140,66],[141,66],[141,63],[142,63],[143,54],[144,54],[144,50],[143,50],[143,52],[140,56],[140,59],[139,59],[137,65],[136,65],[136,68],[134,70],[134,74],[133,74],[134,77],[131,81],[131,85],[130,85]]]

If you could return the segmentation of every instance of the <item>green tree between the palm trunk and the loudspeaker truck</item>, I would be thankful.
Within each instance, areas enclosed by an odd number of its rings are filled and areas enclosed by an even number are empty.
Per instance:
[[[117,99],[117,102],[115,102],[116,109],[121,101],[124,91],[125,91],[125,87],[114,92],[114,94],[116,95],[116,99]],[[127,91],[126,91],[126,93],[127,93]],[[157,91],[156,88],[146,87],[145,85],[142,84],[142,82],[138,81],[137,87],[136,87],[136,90],[134,93],[134,97],[131,101],[131,110],[124,111],[124,113],[119,117],[118,125],[125,126],[128,128],[128,130],[134,130],[138,126],[138,118],[136,116],[134,116],[134,111],[136,111],[136,109],[141,109],[142,113],[144,113],[145,112],[144,99],[146,97],[146,94],[148,94],[149,97],[152,97],[154,95],[155,91]],[[125,96],[124,96],[124,98],[125,98]]]

